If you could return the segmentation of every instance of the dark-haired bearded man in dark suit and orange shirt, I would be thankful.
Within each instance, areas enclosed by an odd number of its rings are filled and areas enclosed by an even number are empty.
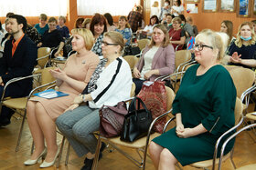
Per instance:
[[[0,95],[4,91],[4,85],[11,79],[32,75],[37,63],[37,45],[27,37],[27,20],[22,15],[10,15],[6,28],[11,38],[6,41],[3,57],[0,59]],[[9,85],[5,91],[5,97],[27,96],[32,90],[32,78],[18,81]],[[10,118],[14,112],[3,106],[0,114],[0,126],[10,124]]]

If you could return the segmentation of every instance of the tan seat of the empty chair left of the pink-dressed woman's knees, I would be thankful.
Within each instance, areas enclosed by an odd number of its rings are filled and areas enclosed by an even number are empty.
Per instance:
[[[25,109],[27,105],[27,97],[8,99],[5,100],[3,104],[9,108]]]

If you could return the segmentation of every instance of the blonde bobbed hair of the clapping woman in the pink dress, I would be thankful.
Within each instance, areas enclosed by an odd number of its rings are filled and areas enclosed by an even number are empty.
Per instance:
[[[90,51],[94,44],[94,37],[90,30],[85,28],[74,28],[71,30],[72,35],[80,35],[83,37],[85,48]]]

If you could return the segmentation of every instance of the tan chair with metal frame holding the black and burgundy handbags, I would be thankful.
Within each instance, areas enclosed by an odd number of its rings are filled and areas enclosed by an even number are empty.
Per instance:
[[[97,149],[96,149],[96,153],[95,153],[95,157],[94,158],[94,162],[93,162],[93,166],[92,169],[97,169],[97,165],[98,165],[98,159],[97,157],[99,157],[100,154],[100,147],[101,147],[101,140],[103,139],[105,142],[107,142],[108,144],[112,145],[113,148],[115,148],[117,151],[119,151],[121,154],[123,154],[125,157],[127,157],[130,161],[133,162],[134,165],[137,165],[139,167],[143,167],[143,169],[145,168],[145,161],[146,161],[146,155],[147,155],[147,146],[148,143],[154,139],[156,136],[159,136],[161,134],[158,133],[153,133],[151,134],[151,130],[153,128],[153,125],[155,124],[156,121],[158,121],[159,119],[165,117],[166,115],[168,115],[172,109],[172,103],[173,100],[175,98],[175,93],[173,92],[173,90],[167,86],[165,86],[166,88],[166,92],[167,92],[167,112],[163,115],[160,115],[158,117],[155,118],[155,120],[152,122],[149,130],[148,130],[148,135],[140,138],[136,141],[134,141],[133,143],[127,143],[127,142],[123,142],[120,140],[120,136],[118,137],[112,137],[112,138],[105,138],[102,137],[101,135],[98,138],[98,145],[97,145]],[[140,155],[140,157],[142,158],[141,161],[138,161],[136,159],[134,159],[131,155],[128,155],[127,153],[123,152],[122,149],[120,149],[117,145],[122,145],[124,147],[129,147],[131,149],[136,149],[137,153],[139,154],[139,152],[143,152],[143,155]]]

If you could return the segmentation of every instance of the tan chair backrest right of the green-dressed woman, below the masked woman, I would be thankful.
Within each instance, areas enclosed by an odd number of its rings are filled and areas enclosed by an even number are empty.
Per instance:
[[[238,97],[255,82],[255,73],[251,69],[233,65],[227,65],[225,68],[233,79]]]

